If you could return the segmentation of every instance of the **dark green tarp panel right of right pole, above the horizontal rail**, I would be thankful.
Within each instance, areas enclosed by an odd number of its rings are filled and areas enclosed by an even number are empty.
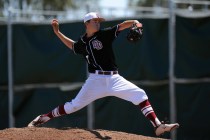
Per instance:
[[[210,77],[210,17],[177,17],[176,25],[176,77]]]

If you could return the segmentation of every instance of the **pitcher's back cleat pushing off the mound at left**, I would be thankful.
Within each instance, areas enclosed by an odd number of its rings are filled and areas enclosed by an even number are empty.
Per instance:
[[[33,121],[31,121],[29,124],[28,124],[28,127],[37,127],[47,121],[49,121],[50,118],[48,116],[44,116],[44,115],[39,115],[37,116]]]

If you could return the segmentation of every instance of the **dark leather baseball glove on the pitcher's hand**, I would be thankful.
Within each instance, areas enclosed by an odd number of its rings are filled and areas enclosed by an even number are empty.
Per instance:
[[[134,24],[128,31],[127,40],[131,43],[139,41],[143,36],[143,27],[137,27]]]

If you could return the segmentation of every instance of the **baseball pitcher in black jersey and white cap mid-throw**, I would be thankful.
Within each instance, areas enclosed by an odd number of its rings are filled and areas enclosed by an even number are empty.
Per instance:
[[[143,115],[154,126],[157,136],[178,128],[178,123],[161,123],[145,91],[124,79],[118,72],[112,49],[113,41],[127,28],[130,28],[127,39],[131,42],[138,41],[143,34],[143,25],[137,20],[126,20],[113,27],[100,29],[100,23],[103,21],[105,19],[95,12],[86,14],[84,16],[86,33],[74,41],[60,32],[58,20],[52,20],[53,31],[57,37],[75,54],[84,57],[88,64],[89,77],[74,99],[47,114],[39,115],[28,126],[39,126],[55,117],[78,111],[99,98],[115,96],[139,106]]]

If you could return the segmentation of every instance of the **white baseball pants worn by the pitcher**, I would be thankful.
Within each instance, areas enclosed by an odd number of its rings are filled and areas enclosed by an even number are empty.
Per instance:
[[[143,89],[127,81],[119,74],[90,74],[78,95],[65,103],[65,112],[67,114],[73,113],[106,96],[115,96],[135,105],[148,99]]]

